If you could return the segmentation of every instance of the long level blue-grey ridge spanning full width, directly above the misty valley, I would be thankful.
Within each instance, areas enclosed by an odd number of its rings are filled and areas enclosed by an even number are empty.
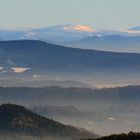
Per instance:
[[[7,87],[0,88],[0,103],[14,102],[16,104],[48,105],[48,104],[76,104],[79,102],[89,104],[92,109],[100,102],[138,102],[140,100],[140,86],[126,86],[121,88],[91,89],[91,88],[31,88]],[[94,103],[93,103],[94,101]],[[100,102],[98,102],[100,101]],[[93,106],[92,106],[93,105]],[[80,107],[81,108],[81,107]]]

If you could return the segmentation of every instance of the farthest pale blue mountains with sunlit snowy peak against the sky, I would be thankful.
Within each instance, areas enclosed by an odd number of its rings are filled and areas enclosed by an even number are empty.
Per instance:
[[[85,25],[57,25],[40,29],[0,30],[0,40],[41,40],[74,48],[140,52],[140,26],[124,31],[92,29]]]

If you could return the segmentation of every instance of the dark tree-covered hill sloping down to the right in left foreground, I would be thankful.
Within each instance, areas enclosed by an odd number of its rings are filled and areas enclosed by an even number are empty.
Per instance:
[[[0,106],[0,134],[31,135],[46,139],[95,138],[97,135],[84,129],[64,125],[42,117],[23,106],[3,104]]]

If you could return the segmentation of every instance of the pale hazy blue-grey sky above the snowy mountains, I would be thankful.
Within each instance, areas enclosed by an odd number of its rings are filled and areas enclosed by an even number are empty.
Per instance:
[[[83,24],[101,29],[140,25],[140,0],[0,0],[0,28]]]

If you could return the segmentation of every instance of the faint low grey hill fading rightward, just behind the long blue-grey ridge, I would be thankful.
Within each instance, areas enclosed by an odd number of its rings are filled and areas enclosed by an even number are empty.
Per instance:
[[[47,80],[47,78],[42,78],[40,76],[33,75],[33,78],[1,78],[0,86],[2,87],[51,87],[51,86],[60,86],[60,87],[92,87],[89,84],[71,81],[71,80]]]

